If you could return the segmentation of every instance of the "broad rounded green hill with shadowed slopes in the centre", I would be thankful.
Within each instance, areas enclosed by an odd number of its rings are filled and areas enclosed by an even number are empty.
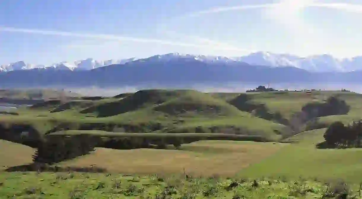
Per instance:
[[[233,133],[279,139],[285,126],[238,110],[195,90],[140,90],[99,100],[47,101],[1,115],[6,128],[28,125],[40,135],[59,130]]]

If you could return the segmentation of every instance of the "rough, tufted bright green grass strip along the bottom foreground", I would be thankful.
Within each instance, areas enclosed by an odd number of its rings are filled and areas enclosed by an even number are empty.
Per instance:
[[[341,198],[342,187],[299,179],[224,179],[87,173],[1,173],[4,198]],[[347,187],[347,186],[345,186]],[[338,193],[338,189],[342,189]],[[358,197],[358,185],[347,187]]]

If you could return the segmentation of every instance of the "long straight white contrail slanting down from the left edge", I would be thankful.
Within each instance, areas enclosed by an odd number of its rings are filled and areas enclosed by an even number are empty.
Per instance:
[[[144,38],[135,38],[135,37],[125,37],[120,35],[109,35],[109,34],[73,33],[67,31],[54,31],[54,30],[19,29],[13,27],[0,27],[0,32],[58,35],[64,37],[94,38],[102,40],[131,41],[131,42],[141,42],[141,43],[159,43],[163,45],[172,45],[172,46],[186,46],[186,47],[195,47],[195,48],[217,48],[222,50],[231,50],[229,47],[224,47],[224,46],[198,45],[194,43],[181,43],[173,41],[164,41],[160,39],[144,39]]]

